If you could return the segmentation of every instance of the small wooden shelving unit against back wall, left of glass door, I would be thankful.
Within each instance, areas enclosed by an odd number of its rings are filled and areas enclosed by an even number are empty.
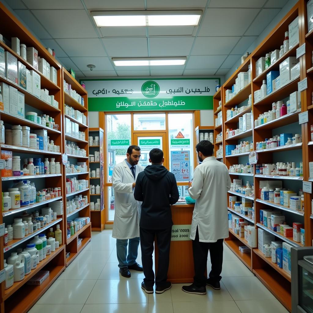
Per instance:
[[[100,210],[91,210],[91,230],[92,231],[102,231],[105,228],[105,191],[104,191],[104,184],[105,184],[105,177],[104,177],[104,147],[105,147],[105,136],[104,136],[104,112],[99,112],[99,125],[102,127],[98,128],[90,128],[89,135],[95,138],[95,136],[99,137],[100,145],[93,145],[89,146],[89,154],[95,154],[95,151],[100,151],[100,161],[99,162],[90,162],[93,163],[90,165],[91,170],[95,170],[97,167],[100,166],[100,177],[90,177],[89,179],[90,184],[100,185]],[[90,194],[90,198],[92,202],[97,202],[96,198],[99,195],[97,194]]]

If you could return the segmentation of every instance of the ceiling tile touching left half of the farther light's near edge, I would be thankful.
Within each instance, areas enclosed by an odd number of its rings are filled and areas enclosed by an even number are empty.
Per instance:
[[[147,57],[146,38],[103,38],[105,48],[111,57]]]

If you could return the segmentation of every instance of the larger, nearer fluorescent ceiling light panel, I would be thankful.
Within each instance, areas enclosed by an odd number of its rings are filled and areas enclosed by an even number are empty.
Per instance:
[[[98,27],[197,26],[201,10],[181,11],[92,11]]]

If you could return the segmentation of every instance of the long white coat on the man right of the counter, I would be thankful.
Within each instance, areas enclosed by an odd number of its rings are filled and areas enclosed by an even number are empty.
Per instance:
[[[227,167],[214,156],[207,157],[193,174],[188,192],[196,199],[192,214],[190,239],[194,240],[198,226],[200,242],[216,242],[228,238],[227,192],[230,177]]]

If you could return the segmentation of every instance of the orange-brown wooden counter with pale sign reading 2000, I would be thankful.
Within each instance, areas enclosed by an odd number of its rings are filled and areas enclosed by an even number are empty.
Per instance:
[[[172,283],[193,282],[192,240],[189,239],[193,208],[194,204],[175,204],[171,206],[173,228],[167,279]],[[157,255],[156,248],[156,269]]]

